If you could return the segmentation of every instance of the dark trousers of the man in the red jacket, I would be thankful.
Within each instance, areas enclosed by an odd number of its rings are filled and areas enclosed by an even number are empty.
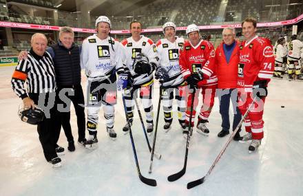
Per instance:
[[[222,117],[222,129],[224,131],[229,131],[230,122],[229,122],[229,103],[233,105],[233,130],[236,129],[238,123],[240,122],[242,115],[238,108],[237,96],[238,90],[237,89],[218,89],[218,98],[220,102],[220,114]],[[241,127],[238,132],[241,131]]]

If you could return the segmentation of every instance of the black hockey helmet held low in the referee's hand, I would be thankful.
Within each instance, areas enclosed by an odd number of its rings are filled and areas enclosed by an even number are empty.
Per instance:
[[[28,122],[29,124],[39,124],[44,119],[44,111],[37,105],[35,105],[34,109],[25,109],[20,105],[18,115],[23,122]]]

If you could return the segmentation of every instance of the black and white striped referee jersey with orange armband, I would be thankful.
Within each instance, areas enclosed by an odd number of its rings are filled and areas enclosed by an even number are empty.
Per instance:
[[[12,89],[22,99],[28,96],[27,93],[39,94],[55,91],[56,80],[52,56],[48,52],[39,56],[31,49],[28,58],[19,61],[12,74]]]

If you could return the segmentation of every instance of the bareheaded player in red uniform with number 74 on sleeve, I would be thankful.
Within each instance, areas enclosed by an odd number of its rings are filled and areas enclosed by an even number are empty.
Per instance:
[[[246,41],[240,45],[240,63],[238,65],[239,109],[242,115],[253,104],[244,121],[247,134],[242,141],[252,140],[249,151],[255,151],[263,138],[262,120],[267,85],[273,76],[275,58],[273,47],[268,39],[258,37],[257,21],[247,18],[242,22],[242,33]],[[255,98],[255,102],[253,99]]]

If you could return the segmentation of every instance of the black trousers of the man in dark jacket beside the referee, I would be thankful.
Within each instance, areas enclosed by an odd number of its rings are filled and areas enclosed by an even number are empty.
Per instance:
[[[74,96],[70,96],[67,94],[68,91],[74,91]],[[63,93],[64,91],[64,93]],[[65,95],[67,98],[61,100],[59,98],[59,94],[61,92],[61,96]],[[70,87],[58,87],[57,94],[56,94],[56,105],[61,104],[61,108],[64,108],[65,111],[62,111],[59,107],[56,107],[57,114],[56,118],[56,129],[59,129],[56,133],[56,142],[59,140],[61,126],[63,127],[65,136],[67,138],[67,142],[74,141],[74,137],[72,136],[72,127],[70,126],[70,105],[71,102],[74,105],[74,109],[76,111],[77,117],[77,125],[78,125],[78,140],[83,140],[85,138],[85,113],[84,113],[84,96],[83,96],[83,89],[82,86],[74,85]]]

